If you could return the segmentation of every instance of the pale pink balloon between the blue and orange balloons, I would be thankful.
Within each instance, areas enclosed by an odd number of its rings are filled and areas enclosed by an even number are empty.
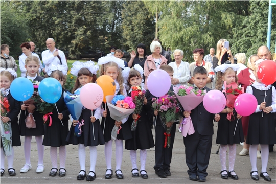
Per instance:
[[[94,110],[101,106],[103,96],[103,89],[98,84],[88,83],[81,88],[80,100],[87,109]]]

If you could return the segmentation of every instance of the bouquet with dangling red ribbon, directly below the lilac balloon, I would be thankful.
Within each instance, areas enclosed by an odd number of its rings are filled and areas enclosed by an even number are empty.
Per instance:
[[[171,129],[167,127],[167,122],[177,122],[180,119],[180,109],[177,105],[177,98],[175,95],[164,95],[159,99],[152,98],[152,107],[158,110],[162,126],[166,128],[164,148],[171,145]]]

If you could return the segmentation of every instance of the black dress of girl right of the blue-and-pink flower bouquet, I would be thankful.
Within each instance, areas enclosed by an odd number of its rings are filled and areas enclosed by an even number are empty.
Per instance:
[[[131,96],[131,93],[128,93],[128,96]],[[138,120],[136,130],[131,131],[132,139],[126,140],[125,142],[125,149],[127,150],[145,150],[154,147],[154,140],[151,131],[151,122],[149,122],[148,118],[148,113],[150,113],[153,110],[151,108],[152,95],[150,94],[149,90],[146,90],[145,96],[148,100],[148,104],[143,105],[142,112],[140,114],[141,117]],[[133,119],[131,114],[126,122],[130,129],[132,122]]]

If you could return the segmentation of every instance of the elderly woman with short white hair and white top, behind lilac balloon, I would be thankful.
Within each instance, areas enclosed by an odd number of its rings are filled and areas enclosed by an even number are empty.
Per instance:
[[[169,65],[173,68],[172,84],[175,86],[187,85],[190,77],[189,63],[182,61],[184,53],[180,49],[173,52],[175,62],[170,62]]]

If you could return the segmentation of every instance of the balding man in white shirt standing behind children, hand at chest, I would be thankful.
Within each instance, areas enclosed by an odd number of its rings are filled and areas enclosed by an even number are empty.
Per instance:
[[[45,68],[43,71],[47,71],[48,67],[52,64],[57,66],[65,65],[66,69],[68,70],[67,62],[65,55],[62,51],[55,48],[56,42],[53,38],[48,38],[46,40],[46,46],[48,50],[42,52],[42,61],[45,64]]]

